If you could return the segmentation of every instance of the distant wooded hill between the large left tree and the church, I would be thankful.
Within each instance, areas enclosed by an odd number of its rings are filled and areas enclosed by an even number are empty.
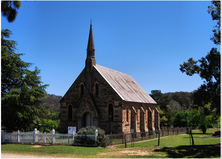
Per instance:
[[[46,105],[53,105],[50,108],[50,112],[60,112],[60,103],[59,101],[62,99],[62,96],[57,96],[54,94],[47,94],[47,97],[42,99],[41,101],[44,102]]]

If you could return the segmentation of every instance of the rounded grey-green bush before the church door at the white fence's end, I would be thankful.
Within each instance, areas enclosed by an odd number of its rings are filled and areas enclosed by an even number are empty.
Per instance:
[[[105,131],[101,128],[97,128],[95,126],[86,126],[77,132],[77,135],[83,135],[82,137],[76,137],[75,143],[77,144],[87,144],[87,145],[94,145],[95,141],[86,137],[86,135],[94,135],[95,130],[98,130],[98,137],[96,140],[97,145],[106,147],[109,144],[109,140],[105,137]]]

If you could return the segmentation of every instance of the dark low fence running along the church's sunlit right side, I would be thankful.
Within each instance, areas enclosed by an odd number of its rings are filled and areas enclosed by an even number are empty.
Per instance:
[[[108,134],[105,136],[109,139],[110,145],[116,145],[116,144],[134,143],[142,140],[150,140],[158,138],[159,133],[160,137],[185,134],[188,132],[188,129],[189,128],[170,128],[170,129],[162,129],[156,131],[151,130],[148,132],[136,132],[128,134]]]

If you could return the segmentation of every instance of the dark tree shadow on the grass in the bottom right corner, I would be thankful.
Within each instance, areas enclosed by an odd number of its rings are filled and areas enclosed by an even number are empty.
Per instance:
[[[220,157],[220,143],[217,145],[163,147],[154,151],[166,152],[169,158],[215,158]]]

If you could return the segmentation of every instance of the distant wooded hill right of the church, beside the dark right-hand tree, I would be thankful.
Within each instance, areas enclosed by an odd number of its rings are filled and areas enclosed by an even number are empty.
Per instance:
[[[171,101],[178,102],[182,109],[189,109],[193,105],[192,93],[190,92],[169,92],[164,93],[164,95],[168,95]]]

